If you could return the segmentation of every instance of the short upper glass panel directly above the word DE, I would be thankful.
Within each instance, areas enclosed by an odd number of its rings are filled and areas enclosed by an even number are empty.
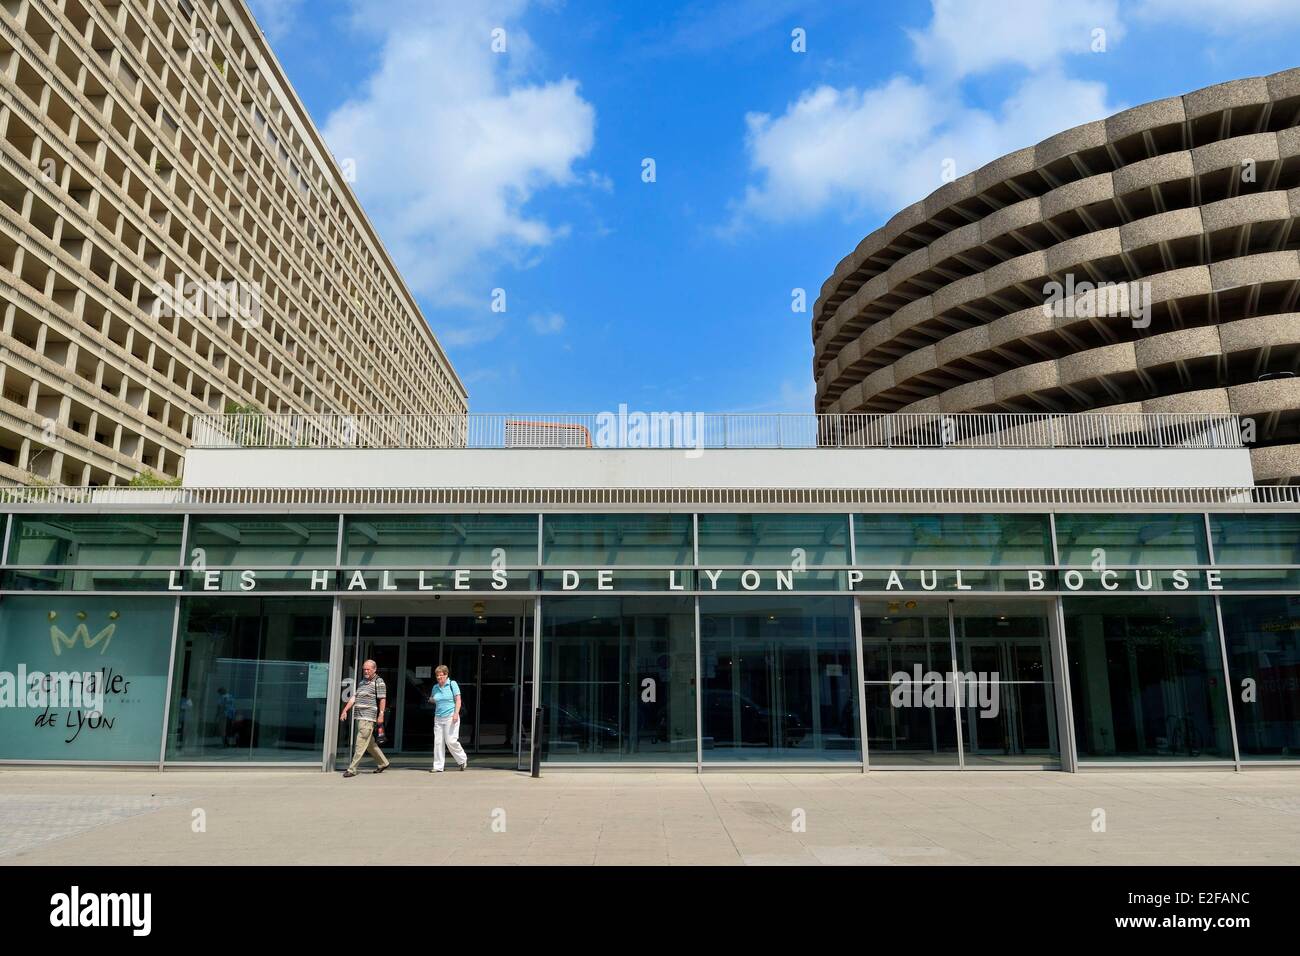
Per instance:
[[[546,515],[542,563],[551,567],[690,564],[690,515]]]

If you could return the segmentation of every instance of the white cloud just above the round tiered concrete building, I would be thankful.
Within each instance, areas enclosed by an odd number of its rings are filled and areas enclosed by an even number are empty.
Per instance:
[[[982,10],[972,13],[966,4],[936,0],[933,21],[913,40],[918,60],[942,70],[864,90],[819,86],[779,116],[749,113],[753,179],[720,232],[734,233],[755,219],[810,219],[833,206],[846,215],[890,212],[941,186],[949,165],[963,176],[1121,109],[1105,83],[1071,78],[1063,66],[1067,55],[1089,48],[1089,23],[1109,25],[1108,49],[1122,35],[1114,4],[1024,7],[1019,17],[1019,9],[1004,12],[1000,4],[970,4]],[[989,22],[998,29],[989,30]],[[967,103],[961,81],[1002,66],[1023,74],[1004,101],[993,109]]]

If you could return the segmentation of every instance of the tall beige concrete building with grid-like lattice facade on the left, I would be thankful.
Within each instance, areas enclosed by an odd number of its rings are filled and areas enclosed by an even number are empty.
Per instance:
[[[4,0],[0,480],[178,475],[228,403],[464,414],[347,169],[242,0]]]

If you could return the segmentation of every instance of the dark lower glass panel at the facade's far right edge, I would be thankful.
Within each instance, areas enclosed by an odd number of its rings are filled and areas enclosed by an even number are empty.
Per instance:
[[[1300,757],[1300,597],[1223,597],[1222,602],[1238,749],[1243,760],[1295,760]]]

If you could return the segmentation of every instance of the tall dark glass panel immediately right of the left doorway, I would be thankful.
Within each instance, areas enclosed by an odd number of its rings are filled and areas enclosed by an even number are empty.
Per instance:
[[[696,760],[689,598],[547,598],[542,641],[547,760]]]

